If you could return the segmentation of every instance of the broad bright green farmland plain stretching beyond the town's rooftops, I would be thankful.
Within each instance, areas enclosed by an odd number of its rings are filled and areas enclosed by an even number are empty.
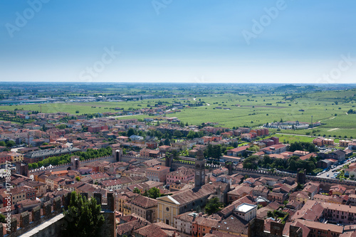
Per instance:
[[[203,107],[186,107],[181,112],[174,112],[167,117],[178,117],[189,125],[201,125],[203,122],[218,122],[221,127],[259,127],[266,122],[283,121],[313,122],[320,121],[325,125],[315,127],[313,130],[281,130],[280,133],[315,135],[327,137],[354,137],[356,138],[356,114],[347,115],[350,109],[355,110],[356,90],[327,91],[305,93],[298,95],[239,95],[214,94],[196,97],[206,102]],[[182,98],[164,98],[162,102],[194,102],[194,95],[181,95]],[[184,97],[183,97],[184,96]],[[290,100],[286,100],[289,97]],[[115,112],[113,108],[120,107],[125,110],[139,109],[147,105],[155,105],[159,100],[140,100],[128,102],[83,102],[43,104],[42,112],[70,112],[79,115],[95,112]],[[216,108],[221,107],[221,109]],[[2,106],[1,110],[40,110],[38,105]],[[112,108],[112,110],[110,110]],[[229,110],[224,110],[229,108]],[[336,114],[336,116],[335,116]],[[139,117],[147,117],[140,115]],[[132,116],[136,117],[136,116]],[[125,117],[123,117],[125,118]],[[273,130],[272,130],[273,131]]]

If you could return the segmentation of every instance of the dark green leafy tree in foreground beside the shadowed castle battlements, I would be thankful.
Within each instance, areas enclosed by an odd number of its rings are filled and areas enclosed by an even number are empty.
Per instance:
[[[85,197],[73,191],[70,194],[68,210],[64,211],[68,225],[63,230],[63,236],[98,236],[105,221],[100,211],[101,206],[96,203],[96,199],[88,201]]]

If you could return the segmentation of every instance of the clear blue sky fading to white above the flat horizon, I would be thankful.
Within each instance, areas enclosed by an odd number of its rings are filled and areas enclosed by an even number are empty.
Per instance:
[[[0,80],[355,83],[355,9],[352,0],[4,0]]]

